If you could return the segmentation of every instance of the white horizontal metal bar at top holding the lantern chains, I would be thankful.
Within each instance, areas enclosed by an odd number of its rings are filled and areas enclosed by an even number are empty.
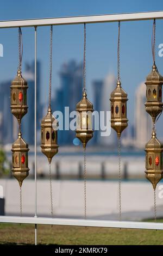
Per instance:
[[[146,13],[76,16],[76,17],[58,17],[58,18],[32,19],[32,20],[0,21],[0,28],[35,27],[35,26],[49,26],[49,25],[72,25],[72,24],[81,24],[81,23],[100,23],[100,22],[116,22],[116,21],[138,21],[138,20],[152,20],[154,18],[163,19],[163,11],[151,11]]]

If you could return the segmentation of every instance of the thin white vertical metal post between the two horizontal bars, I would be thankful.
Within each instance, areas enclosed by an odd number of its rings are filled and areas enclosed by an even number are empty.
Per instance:
[[[37,27],[35,27],[35,218],[37,218]],[[35,224],[35,245],[37,245],[37,224]]]

